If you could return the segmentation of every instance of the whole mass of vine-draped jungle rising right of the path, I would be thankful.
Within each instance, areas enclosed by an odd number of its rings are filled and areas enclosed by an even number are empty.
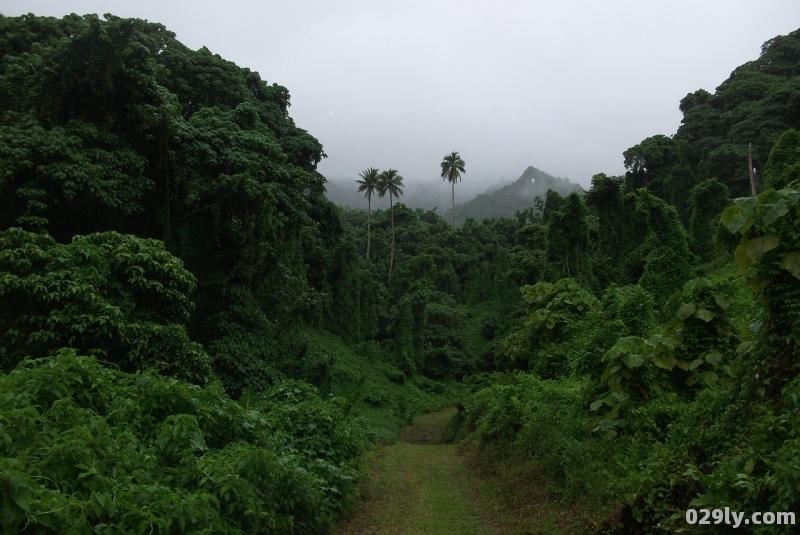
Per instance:
[[[574,504],[576,531],[704,533],[688,508],[798,511],[798,82],[800,31],[687,95],[678,132],[626,151],[625,176],[549,196],[556,210],[520,229],[526,310],[453,430]]]

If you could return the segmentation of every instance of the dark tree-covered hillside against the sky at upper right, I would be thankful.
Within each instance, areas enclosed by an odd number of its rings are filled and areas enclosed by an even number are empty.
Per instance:
[[[778,136],[800,128],[800,39],[797,32],[764,43],[758,59],[734,69],[714,94],[680,101],[674,136],[655,135],[625,151],[630,188],[646,186],[690,217],[693,187],[716,178],[732,197],[750,195],[749,145],[760,189],[771,186],[769,156]]]

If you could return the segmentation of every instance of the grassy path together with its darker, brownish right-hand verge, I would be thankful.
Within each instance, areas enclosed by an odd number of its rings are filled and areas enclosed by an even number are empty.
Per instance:
[[[594,525],[579,504],[550,499],[546,478],[524,460],[444,443],[455,413],[450,407],[419,416],[396,444],[368,456],[363,499],[334,535],[544,535]]]

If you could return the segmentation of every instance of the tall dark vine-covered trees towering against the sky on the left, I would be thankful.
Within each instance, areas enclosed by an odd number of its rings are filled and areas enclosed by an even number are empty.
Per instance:
[[[190,338],[230,392],[267,388],[343,261],[288,90],[111,15],[0,17],[0,52],[0,230],[163,241],[197,278]]]

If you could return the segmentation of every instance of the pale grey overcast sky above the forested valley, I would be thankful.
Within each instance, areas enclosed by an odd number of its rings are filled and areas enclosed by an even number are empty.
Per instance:
[[[584,186],[621,174],[625,149],[675,133],[687,93],[800,27],[797,0],[0,0],[28,12],[161,22],[286,86],[328,178],[438,179],[456,150],[462,191],[529,165]]]

